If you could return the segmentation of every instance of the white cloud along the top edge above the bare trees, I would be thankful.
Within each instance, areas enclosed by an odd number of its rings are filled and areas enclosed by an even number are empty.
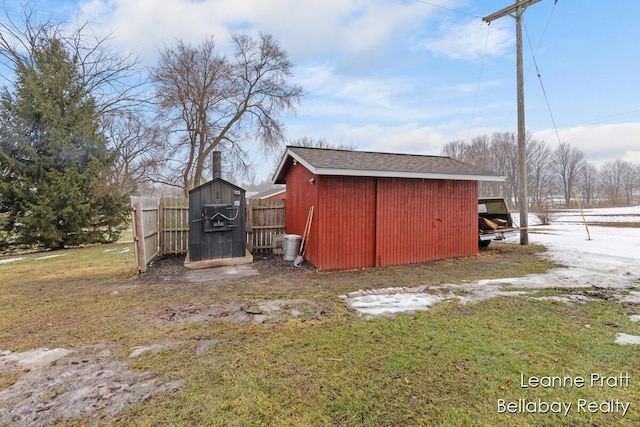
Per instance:
[[[147,57],[177,38],[197,43],[213,35],[224,44],[231,32],[257,31],[273,34],[294,57],[313,57],[375,53],[432,13],[421,6],[391,0],[89,0],[80,3],[80,18]]]

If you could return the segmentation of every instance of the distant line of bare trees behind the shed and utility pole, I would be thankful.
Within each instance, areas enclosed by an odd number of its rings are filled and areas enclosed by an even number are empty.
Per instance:
[[[518,205],[517,135],[497,132],[473,138],[470,143],[451,141],[442,155],[500,173],[504,183],[481,182],[480,195],[502,195]],[[551,149],[544,141],[526,139],[527,195],[532,209],[575,203],[573,188],[587,206],[632,205],[640,197],[640,165],[623,160],[610,161],[599,169],[585,159],[579,149],[561,143]],[[634,199],[636,197],[636,199]]]

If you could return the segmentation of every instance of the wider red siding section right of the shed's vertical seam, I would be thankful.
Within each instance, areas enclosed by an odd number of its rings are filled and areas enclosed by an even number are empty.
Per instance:
[[[379,178],[376,265],[477,254],[477,194],[475,181]]]

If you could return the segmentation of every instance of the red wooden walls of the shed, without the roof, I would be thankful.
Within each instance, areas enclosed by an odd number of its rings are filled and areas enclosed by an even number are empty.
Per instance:
[[[305,258],[320,270],[478,253],[476,181],[317,176],[297,164],[286,184],[288,234],[303,234],[315,206]]]

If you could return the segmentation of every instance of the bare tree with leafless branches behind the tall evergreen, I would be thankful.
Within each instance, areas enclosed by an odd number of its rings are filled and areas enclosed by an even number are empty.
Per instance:
[[[2,65],[9,70],[35,68],[37,64],[34,62],[34,52],[42,48],[43,41],[57,40],[61,43],[77,69],[77,77],[80,80],[77,87],[95,106],[94,115],[98,131],[107,139],[108,149],[116,158],[111,184],[117,182],[121,194],[128,193],[131,189],[128,178],[133,175],[125,178],[122,173],[134,173],[130,169],[131,160],[132,156],[140,154],[139,142],[134,141],[131,135],[125,137],[125,133],[131,131],[128,125],[115,131],[122,125],[123,117],[138,117],[140,120],[143,114],[140,111],[144,104],[144,98],[140,93],[143,82],[137,73],[137,58],[132,54],[122,55],[120,51],[111,47],[109,36],[94,36],[87,23],[74,27],[51,19],[40,20],[33,4],[23,5],[19,18],[14,18],[6,7],[4,12],[5,17],[0,20]],[[13,82],[10,76],[5,74],[3,77],[15,87],[16,82]],[[6,91],[7,94],[10,93],[8,89]],[[118,126],[114,126],[116,123]],[[134,146],[129,147],[129,143],[133,143]],[[125,161],[125,158],[129,160]],[[127,165],[123,164],[123,161]],[[129,171],[125,172],[127,168]]]

